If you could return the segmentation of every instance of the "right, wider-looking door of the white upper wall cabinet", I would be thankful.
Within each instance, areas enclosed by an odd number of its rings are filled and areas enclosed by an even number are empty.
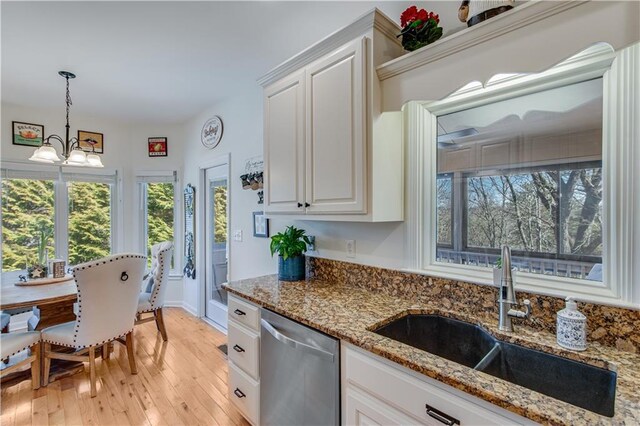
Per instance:
[[[307,213],[366,213],[366,38],[307,67]]]

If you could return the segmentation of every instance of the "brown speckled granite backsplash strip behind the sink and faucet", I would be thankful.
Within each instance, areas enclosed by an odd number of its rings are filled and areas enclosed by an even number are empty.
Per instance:
[[[394,297],[439,304],[463,314],[490,321],[498,318],[498,289],[493,286],[429,277],[354,263],[308,258],[309,275],[326,281],[350,284]],[[527,320],[514,320],[534,330],[555,333],[556,312],[564,299],[518,292],[518,299],[529,299],[533,308]],[[594,303],[579,303],[587,316],[587,339],[619,350],[640,353],[640,311]]]

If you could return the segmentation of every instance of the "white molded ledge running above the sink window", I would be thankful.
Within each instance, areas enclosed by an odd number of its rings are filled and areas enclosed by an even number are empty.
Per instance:
[[[527,2],[378,66],[376,68],[378,78],[382,81],[411,71],[585,3],[588,3],[588,0]]]

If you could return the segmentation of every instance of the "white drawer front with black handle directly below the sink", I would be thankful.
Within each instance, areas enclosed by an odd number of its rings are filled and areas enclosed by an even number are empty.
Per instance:
[[[426,376],[418,379],[374,358],[374,355],[365,355],[349,348],[345,358],[346,379],[350,385],[359,387],[422,424],[441,424],[434,416],[443,413],[462,425],[531,424],[527,419],[510,413],[502,415],[504,410],[500,407],[485,408],[484,405],[489,405],[486,401],[463,395],[457,389]],[[432,415],[427,413],[427,405],[431,407]]]

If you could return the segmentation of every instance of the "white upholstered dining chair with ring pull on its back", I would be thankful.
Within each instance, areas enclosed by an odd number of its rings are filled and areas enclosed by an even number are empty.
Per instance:
[[[96,347],[114,340],[127,347],[131,374],[137,373],[133,326],[146,263],[146,256],[121,253],[73,268],[78,286],[78,315],[75,321],[42,330],[45,385],[49,382],[52,359],[88,362],[91,397],[96,396]],[[54,352],[52,344],[73,348],[75,352]]]

